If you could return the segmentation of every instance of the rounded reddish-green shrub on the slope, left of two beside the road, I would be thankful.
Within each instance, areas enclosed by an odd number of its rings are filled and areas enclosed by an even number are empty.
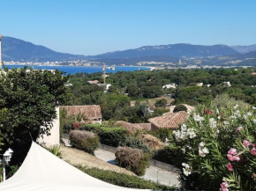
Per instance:
[[[70,143],[73,147],[94,154],[100,143],[100,139],[93,132],[83,130],[72,130],[70,132]]]

